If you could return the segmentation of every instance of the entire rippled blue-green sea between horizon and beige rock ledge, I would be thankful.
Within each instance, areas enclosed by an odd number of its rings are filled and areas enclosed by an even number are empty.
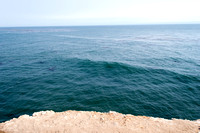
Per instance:
[[[200,25],[0,28],[0,122],[43,110],[200,119]]]

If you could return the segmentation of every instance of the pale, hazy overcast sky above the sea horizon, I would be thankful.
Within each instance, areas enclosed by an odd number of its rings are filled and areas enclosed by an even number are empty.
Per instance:
[[[0,0],[0,27],[200,24],[200,0]]]

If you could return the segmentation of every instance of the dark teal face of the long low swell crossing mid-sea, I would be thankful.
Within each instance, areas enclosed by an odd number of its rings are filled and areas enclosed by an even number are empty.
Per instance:
[[[180,77],[184,79],[191,79],[195,81],[199,81],[200,79],[198,76],[194,75],[186,75],[186,74],[180,74],[177,72],[173,72],[167,69],[157,69],[152,67],[142,67],[142,66],[133,66],[121,62],[108,62],[108,61],[93,61],[89,59],[79,59],[79,58],[71,58],[72,62],[76,62],[78,67],[85,68],[85,69],[95,69],[96,72],[113,72],[116,73],[116,75],[121,74],[148,74],[149,76],[152,74],[160,74],[163,76],[172,76],[172,77]],[[172,58],[172,60],[175,60]],[[181,59],[177,59],[179,61]],[[182,61],[182,60],[181,60]]]

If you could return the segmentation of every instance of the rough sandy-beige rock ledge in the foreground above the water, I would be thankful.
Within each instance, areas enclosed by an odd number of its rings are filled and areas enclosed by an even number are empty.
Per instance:
[[[0,133],[199,133],[200,120],[89,111],[36,112],[0,123]]]

